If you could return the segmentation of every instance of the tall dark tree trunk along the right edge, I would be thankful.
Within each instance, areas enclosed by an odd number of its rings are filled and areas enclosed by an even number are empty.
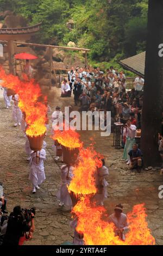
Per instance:
[[[162,32],[163,1],[149,0],[141,140],[145,166],[156,166],[160,162],[157,142],[163,106],[163,57],[159,54]]]

